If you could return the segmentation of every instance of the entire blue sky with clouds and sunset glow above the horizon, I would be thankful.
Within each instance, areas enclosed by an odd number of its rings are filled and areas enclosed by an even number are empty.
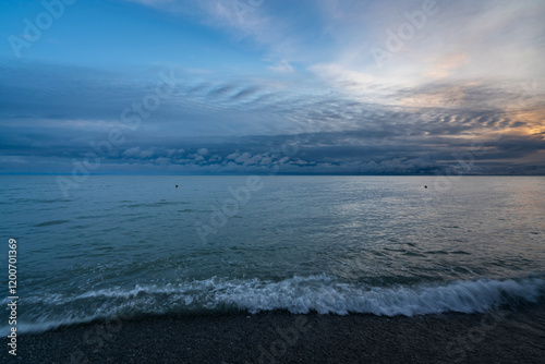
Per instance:
[[[0,173],[545,174],[543,0],[0,1]]]

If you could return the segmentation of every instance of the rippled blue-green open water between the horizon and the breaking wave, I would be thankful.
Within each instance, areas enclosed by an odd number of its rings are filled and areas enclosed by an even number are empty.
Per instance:
[[[545,271],[545,178],[463,177],[439,191],[432,177],[262,177],[206,242],[195,223],[211,225],[246,177],[92,177],[68,199],[55,177],[0,179],[0,231],[20,242],[27,296],[214,277],[392,287]]]

